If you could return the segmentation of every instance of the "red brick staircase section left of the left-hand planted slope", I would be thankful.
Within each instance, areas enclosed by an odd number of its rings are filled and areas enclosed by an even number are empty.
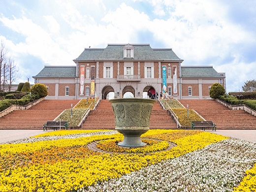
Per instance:
[[[42,129],[47,121],[53,121],[64,109],[79,100],[45,99],[28,110],[16,110],[0,118],[0,129]]]

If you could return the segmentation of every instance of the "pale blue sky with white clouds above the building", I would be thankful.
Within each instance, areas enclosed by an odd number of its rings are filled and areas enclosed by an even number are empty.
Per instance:
[[[172,48],[182,65],[225,72],[227,92],[256,79],[255,0],[0,0],[0,40],[16,83],[108,43]]]

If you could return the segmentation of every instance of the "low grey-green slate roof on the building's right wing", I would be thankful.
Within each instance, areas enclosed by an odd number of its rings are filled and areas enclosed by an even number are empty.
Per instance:
[[[181,77],[223,77],[213,66],[181,66]]]

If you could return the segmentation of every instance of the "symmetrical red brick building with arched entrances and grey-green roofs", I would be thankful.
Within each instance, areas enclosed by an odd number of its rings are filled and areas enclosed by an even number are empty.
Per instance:
[[[149,44],[108,44],[86,48],[73,66],[45,66],[33,76],[45,84],[49,99],[107,98],[109,93],[135,97],[166,92],[178,99],[210,98],[213,83],[225,88],[225,73],[212,66],[182,66],[172,49],[154,49]]]

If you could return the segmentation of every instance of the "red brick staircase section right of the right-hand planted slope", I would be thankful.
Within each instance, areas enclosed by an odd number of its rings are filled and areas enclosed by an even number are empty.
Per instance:
[[[179,100],[194,109],[206,121],[213,121],[217,129],[256,129],[256,117],[243,110],[230,110],[215,100]]]

